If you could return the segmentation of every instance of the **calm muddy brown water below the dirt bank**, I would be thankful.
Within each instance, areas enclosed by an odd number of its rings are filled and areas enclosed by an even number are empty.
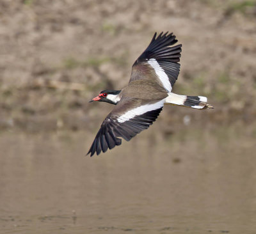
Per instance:
[[[0,233],[256,233],[255,132],[155,132],[1,134]]]

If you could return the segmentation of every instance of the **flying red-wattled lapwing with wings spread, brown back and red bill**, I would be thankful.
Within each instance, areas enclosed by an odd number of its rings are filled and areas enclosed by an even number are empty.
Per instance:
[[[147,49],[132,65],[131,79],[122,90],[103,90],[90,102],[108,102],[116,105],[103,121],[87,154],[106,152],[129,141],[148,129],[162,111],[164,104],[181,105],[195,109],[209,109],[207,98],[172,93],[180,71],[181,45],[170,33],[154,34]]]

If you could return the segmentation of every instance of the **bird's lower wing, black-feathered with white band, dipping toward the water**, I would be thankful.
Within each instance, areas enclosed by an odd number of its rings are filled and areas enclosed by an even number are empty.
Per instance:
[[[144,129],[148,129],[163,108],[163,100],[145,106],[145,111],[140,111],[139,107],[134,107],[138,104],[135,100],[128,100],[127,102],[120,102],[113,109],[111,113],[103,121],[99,132],[97,133],[92,146],[87,154],[92,157],[96,152],[106,152],[108,148],[111,150],[116,145],[122,144],[122,137],[125,141],[130,141],[132,137],[140,133]],[[124,109],[120,114],[120,109]],[[132,108],[129,108],[132,107]],[[130,112],[129,112],[130,111]],[[132,114],[131,114],[132,113]],[[138,115],[136,115],[138,113]]]

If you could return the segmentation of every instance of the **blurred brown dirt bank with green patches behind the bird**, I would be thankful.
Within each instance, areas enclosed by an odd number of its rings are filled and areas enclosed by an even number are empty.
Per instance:
[[[173,91],[215,107],[165,107],[166,134],[255,119],[255,1],[1,1],[0,20],[1,130],[95,131],[112,107],[88,100],[129,81],[155,31],[182,43]]]

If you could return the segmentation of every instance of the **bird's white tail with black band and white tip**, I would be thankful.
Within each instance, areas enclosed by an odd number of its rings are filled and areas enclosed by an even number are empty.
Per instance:
[[[212,105],[207,104],[207,97],[203,96],[186,96],[175,93],[168,93],[164,104],[182,105],[195,109],[212,109]]]

